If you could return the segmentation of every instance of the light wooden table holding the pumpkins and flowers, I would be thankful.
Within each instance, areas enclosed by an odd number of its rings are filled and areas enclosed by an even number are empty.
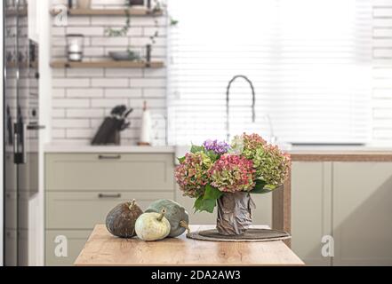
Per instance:
[[[191,230],[212,229],[193,225]],[[254,226],[263,227],[266,226]],[[303,265],[283,241],[219,242],[189,240],[185,234],[163,241],[125,240],[96,225],[75,265]]]

